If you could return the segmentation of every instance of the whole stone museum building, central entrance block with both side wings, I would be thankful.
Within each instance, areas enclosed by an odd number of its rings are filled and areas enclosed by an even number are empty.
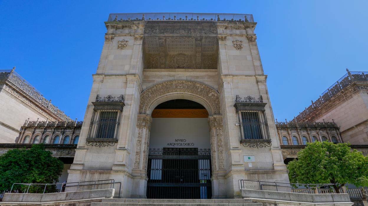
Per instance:
[[[0,70],[0,143],[17,143],[0,154],[45,143],[68,182],[114,179],[122,198],[173,198],[153,194],[162,186],[198,193],[179,198],[240,198],[241,179],[289,182],[284,163],[307,142],[367,144],[361,72],[293,121],[274,121],[250,14],[110,14],[105,25],[83,122]]]

